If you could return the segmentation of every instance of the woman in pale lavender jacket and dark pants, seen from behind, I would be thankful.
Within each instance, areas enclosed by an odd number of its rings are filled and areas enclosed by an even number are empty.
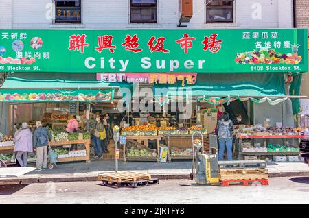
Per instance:
[[[16,159],[19,165],[27,167],[28,153],[33,152],[32,132],[28,129],[27,123],[23,123],[21,128],[14,138],[14,152],[16,152]]]

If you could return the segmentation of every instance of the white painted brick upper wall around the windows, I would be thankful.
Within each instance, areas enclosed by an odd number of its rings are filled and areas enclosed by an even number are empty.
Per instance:
[[[49,16],[55,14],[55,0],[0,0],[1,29],[176,29],[179,23],[179,0],[157,0],[155,23],[130,22],[132,0],[82,0],[81,23],[58,25]],[[205,0],[193,1],[188,29],[203,28],[291,28],[293,0],[233,1],[233,21],[209,23]]]

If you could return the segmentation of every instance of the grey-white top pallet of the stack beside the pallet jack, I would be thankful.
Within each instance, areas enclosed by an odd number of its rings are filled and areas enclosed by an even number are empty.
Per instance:
[[[220,169],[266,168],[266,165],[267,162],[264,160],[219,161]]]

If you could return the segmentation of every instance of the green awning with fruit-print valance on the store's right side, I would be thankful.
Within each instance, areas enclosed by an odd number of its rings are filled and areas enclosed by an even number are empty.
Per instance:
[[[255,103],[268,101],[278,104],[286,101],[284,73],[209,73],[198,74],[194,85],[156,84],[155,98],[161,104],[168,99],[196,99],[219,105],[231,101],[251,100]],[[273,101],[272,97],[279,97]]]

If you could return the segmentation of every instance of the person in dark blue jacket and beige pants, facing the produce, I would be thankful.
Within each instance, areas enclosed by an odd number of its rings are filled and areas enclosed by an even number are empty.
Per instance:
[[[34,150],[36,150],[36,170],[45,170],[47,169],[47,145],[49,141],[52,141],[52,134],[42,127],[41,121],[37,121],[32,139]]]

